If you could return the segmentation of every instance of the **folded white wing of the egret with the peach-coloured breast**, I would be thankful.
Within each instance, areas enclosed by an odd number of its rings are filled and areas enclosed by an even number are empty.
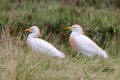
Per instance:
[[[80,51],[85,53],[97,54],[100,48],[90,38],[85,35],[76,37],[77,45]]]

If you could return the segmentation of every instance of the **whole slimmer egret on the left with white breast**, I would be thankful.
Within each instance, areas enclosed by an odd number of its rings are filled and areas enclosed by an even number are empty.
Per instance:
[[[40,35],[40,31],[37,26],[32,26],[24,31],[31,32],[27,38],[27,44],[33,51],[47,54],[49,56],[57,56],[60,58],[65,57],[64,53],[57,50],[53,45],[51,45],[47,41],[38,38]]]

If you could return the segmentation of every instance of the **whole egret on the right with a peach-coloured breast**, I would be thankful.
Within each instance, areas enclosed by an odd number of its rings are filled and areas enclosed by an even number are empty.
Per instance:
[[[80,25],[73,25],[72,27],[66,27],[65,29],[72,30],[70,34],[69,42],[71,46],[77,51],[86,56],[103,56],[108,57],[108,54],[102,50],[94,41],[84,35],[82,27]]]

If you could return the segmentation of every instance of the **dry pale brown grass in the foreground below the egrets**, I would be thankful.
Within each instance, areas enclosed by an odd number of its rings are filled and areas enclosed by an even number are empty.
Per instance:
[[[116,80],[120,79],[119,57],[65,59],[31,52],[26,37],[13,37],[3,31],[0,39],[0,80]],[[114,50],[111,50],[114,52]]]

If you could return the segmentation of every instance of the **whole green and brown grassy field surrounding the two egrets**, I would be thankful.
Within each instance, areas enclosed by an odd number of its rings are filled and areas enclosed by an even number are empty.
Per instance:
[[[120,8],[95,1],[0,0],[0,80],[120,80]],[[76,56],[70,31],[63,29],[73,24],[80,24],[109,58]],[[66,58],[33,53],[23,32],[32,25]]]

